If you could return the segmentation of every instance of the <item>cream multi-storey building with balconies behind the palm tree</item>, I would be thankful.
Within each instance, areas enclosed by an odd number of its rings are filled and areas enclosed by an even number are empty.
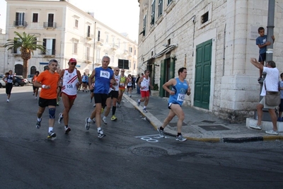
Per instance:
[[[129,61],[127,74],[137,73],[137,42],[127,38],[93,18],[68,1],[7,1],[6,40],[18,33],[35,35],[47,52],[36,50],[28,62],[28,74],[43,71],[50,59],[57,59],[65,69],[70,58],[76,58],[81,73],[91,73],[108,55],[110,67],[117,67],[119,59]],[[23,59],[19,50],[5,51],[6,70],[21,74]]]

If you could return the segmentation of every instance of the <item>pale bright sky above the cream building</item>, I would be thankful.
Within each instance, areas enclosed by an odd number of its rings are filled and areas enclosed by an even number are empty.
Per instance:
[[[59,1],[59,0],[54,0]],[[94,12],[94,18],[119,33],[128,33],[129,39],[139,37],[138,0],[69,0],[83,11]],[[0,0],[0,28],[6,23],[6,1]]]

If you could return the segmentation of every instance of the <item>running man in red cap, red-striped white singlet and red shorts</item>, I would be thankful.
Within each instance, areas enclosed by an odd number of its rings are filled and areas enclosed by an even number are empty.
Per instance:
[[[64,120],[64,130],[66,134],[71,131],[71,128],[69,127],[69,111],[74,105],[76,93],[81,85],[81,72],[75,69],[76,59],[69,59],[68,65],[68,69],[63,69],[61,71],[60,79],[62,81],[59,82],[59,84],[62,84],[62,101],[64,110],[62,113],[59,113],[58,122],[61,124],[62,120]]]

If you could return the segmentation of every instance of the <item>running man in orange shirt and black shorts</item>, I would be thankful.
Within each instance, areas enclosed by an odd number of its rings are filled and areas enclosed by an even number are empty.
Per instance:
[[[56,134],[53,130],[55,122],[55,110],[57,103],[57,87],[59,82],[59,74],[56,72],[58,62],[56,59],[51,59],[48,62],[49,69],[43,71],[35,80],[35,86],[41,87],[40,98],[38,100],[37,123],[36,128],[40,129],[42,114],[45,108],[49,110],[49,128],[47,138],[54,138]]]

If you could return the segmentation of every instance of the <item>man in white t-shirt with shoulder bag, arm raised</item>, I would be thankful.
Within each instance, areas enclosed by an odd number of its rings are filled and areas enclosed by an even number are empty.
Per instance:
[[[277,115],[275,113],[275,108],[277,108],[277,105],[276,106],[267,105],[265,103],[265,95],[266,95],[266,91],[278,91],[279,71],[276,68],[275,62],[273,62],[273,61],[268,61],[267,64],[266,64],[266,67],[264,67],[255,58],[251,58],[250,62],[255,67],[260,69],[261,71],[266,72],[265,81],[263,81],[262,91],[260,93],[260,96],[262,96],[262,99],[256,107],[257,111],[258,111],[258,123],[255,124],[255,125],[250,125],[250,128],[253,128],[255,130],[261,130],[262,109],[267,108],[268,112],[270,113],[271,120],[272,120],[273,130],[265,131],[265,133],[278,135],[278,132],[277,132]]]

